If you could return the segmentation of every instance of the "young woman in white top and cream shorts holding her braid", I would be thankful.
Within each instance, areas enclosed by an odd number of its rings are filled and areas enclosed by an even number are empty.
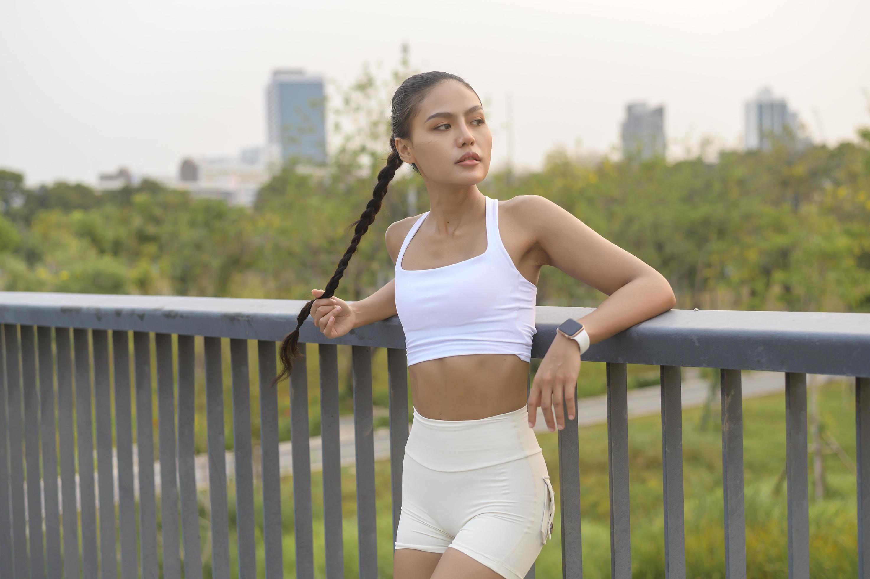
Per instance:
[[[545,105],[542,105],[545,107]],[[552,115],[542,117],[552,121]],[[398,314],[405,331],[413,421],[405,448],[397,579],[522,579],[552,534],[555,495],[532,430],[573,420],[580,355],[589,344],[666,312],[673,290],[653,267],[538,195],[500,202],[478,190],[492,134],[462,78],[425,72],[392,98],[391,153],[351,246],[323,290],[312,290],[282,342],[289,375],[309,314],[329,338]],[[395,277],[365,300],[335,297],[391,178],[410,163],[431,209],[386,230]],[[541,266],[609,297],[559,328],[526,384]],[[582,324],[582,329],[579,327]],[[555,410],[555,413],[553,412]]]

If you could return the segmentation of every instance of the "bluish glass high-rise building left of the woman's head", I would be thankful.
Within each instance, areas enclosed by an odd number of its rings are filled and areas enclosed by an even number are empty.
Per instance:
[[[291,156],[303,164],[326,162],[324,80],[302,69],[272,72],[266,87],[266,123],[271,161]]]

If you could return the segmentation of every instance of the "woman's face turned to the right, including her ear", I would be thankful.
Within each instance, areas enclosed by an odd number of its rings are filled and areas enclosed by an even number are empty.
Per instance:
[[[448,80],[429,91],[412,119],[411,140],[397,138],[396,147],[424,178],[475,185],[489,172],[492,133],[474,91]],[[460,165],[459,158],[469,152],[480,160]]]

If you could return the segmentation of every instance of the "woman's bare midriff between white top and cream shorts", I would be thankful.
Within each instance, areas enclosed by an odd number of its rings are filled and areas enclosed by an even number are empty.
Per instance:
[[[442,421],[479,420],[525,406],[528,375],[529,363],[512,353],[448,356],[408,367],[414,408]]]

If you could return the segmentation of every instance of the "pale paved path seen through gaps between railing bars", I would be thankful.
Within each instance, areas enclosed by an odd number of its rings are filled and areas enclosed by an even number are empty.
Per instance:
[[[686,368],[689,376],[697,376],[697,368]],[[827,382],[831,380],[847,379],[846,376],[834,376],[827,374],[807,374],[807,380],[816,380],[813,383]],[[689,377],[682,381],[681,387],[682,407],[693,408],[703,406],[706,397],[709,395],[709,384],[707,380],[698,377]],[[757,398],[768,394],[777,394],[785,392],[785,377],[781,372],[750,372],[743,371],[742,394],[744,399]],[[715,394],[715,404],[719,404],[718,386]],[[637,416],[646,416],[648,414],[659,414],[661,410],[661,397],[659,386],[648,386],[635,388],[628,391],[628,417],[634,418]],[[374,408],[374,418],[379,416],[389,415],[389,411],[385,408]],[[607,421],[607,396],[601,394],[579,400],[577,420],[580,428],[592,426],[595,424],[606,423]],[[410,430],[410,424],[409,424]],[[549,432],[544,420],[544,413],[539,408],[538,418],[535,421],[534,431],[537,433]],[[353,416],[342,416],[338,420],[338,432],[341,440],[341,464],[342,466],[352,465],[356,462],[356,449],[354,447],[354,429]],[[390,458],[390,428],[376,428],[374,436],[374,456],[376,461],[384,461]],[[319,436],[311,438],[311,471],[322,470],[323,464],[322,447]],[[113,449],[114,454],[114,449]],[[292,449],[291,442],[284,441],[278,445],[280,455],[280,470],[281,475],[291,475],[292,468]],[[114,458],[114,457],[113,457]],[[95,457],[96,460],[96,457]],[[254,448],[254,477],[259,477],[259,454],[258,448]],[[133,482],[134,492],[138,496],[139,493],[139,477],[137,469],[136,447],[133,447]],[[197,487],[208,488],[209,484],[209,460],[208,454],[197,454],[195,457],[197,471]],[[117,494],[117,458],[113,461],[115,465],[115,501],[118,500]],[[226,474],[228,478],[235,477],[235,454],[232,451],[226,453]],[[154,463],[154,478],[157,494],[160,493],[160,462]],[[98,475],[95,473],[95,488],[97,488]],[[58,481],[60,487],[60,481]],[[76,476],[76,487],[78,487],[78,476]],[[60,488],[58,488],[58,492]],[[78,497],[79,493],[76,493]],[[25,489],[26,496],[26,489]],[[26,501],[25,501],[26,502]]]

